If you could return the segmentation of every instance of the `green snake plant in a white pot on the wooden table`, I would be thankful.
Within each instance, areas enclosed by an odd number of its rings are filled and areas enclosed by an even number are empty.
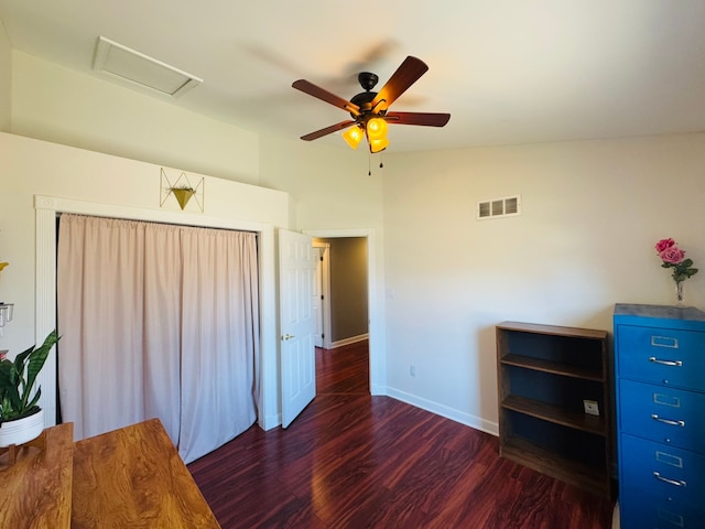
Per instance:
[[[44,412],[37,404],[42,388],[32,388],[46,357],[58,342],[52,331],[41,347],[32,346],[14,361],[0,357],[0,446],[21,444],[44,430]]]

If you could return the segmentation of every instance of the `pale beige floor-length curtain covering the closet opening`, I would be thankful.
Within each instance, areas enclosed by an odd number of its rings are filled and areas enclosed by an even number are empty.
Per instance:
[[[191,462],[256,419],[254,234],[63,215],[59,399],[84,439],[159,417]]]

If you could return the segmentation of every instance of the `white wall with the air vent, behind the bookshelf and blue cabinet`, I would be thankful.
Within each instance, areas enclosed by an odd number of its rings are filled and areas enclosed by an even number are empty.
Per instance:
[[[617,302],[674,303],[653,245],[673,237],[702,271],[705,134],[398,154],[386,164],[389,392],[497,431],[494,325],[611,331]],[[522,215],[476,220],[521,194]],[[410,365],[416,376],[410,376]]]

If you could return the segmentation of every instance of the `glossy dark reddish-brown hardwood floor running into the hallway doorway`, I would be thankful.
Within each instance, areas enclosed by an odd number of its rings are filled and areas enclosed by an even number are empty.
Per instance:
[[[224,528],[604,529],[612,503],[498,440],[368,390],[367,343],[316,350],[317,396],[188,465]]]

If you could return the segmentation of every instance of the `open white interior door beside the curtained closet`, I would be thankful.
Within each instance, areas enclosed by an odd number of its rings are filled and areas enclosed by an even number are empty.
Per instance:
[[[313,283],[316,261],[312,237],[279,230],[282,427],[316,396]]]

